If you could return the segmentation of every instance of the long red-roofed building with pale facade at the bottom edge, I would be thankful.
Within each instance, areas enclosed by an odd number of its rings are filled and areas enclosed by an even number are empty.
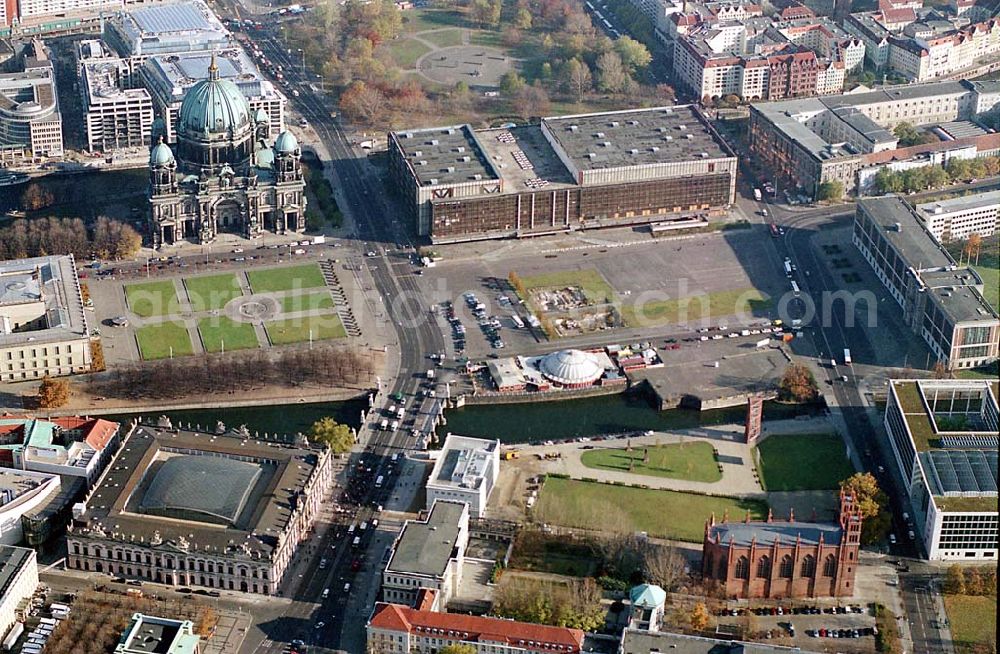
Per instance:
[[[583,651],[584,633],[501,618],[421,611],[379,602],[368,620],[368,648],[383,654],[434,654],[442,647],[464,645],[476,654]]]

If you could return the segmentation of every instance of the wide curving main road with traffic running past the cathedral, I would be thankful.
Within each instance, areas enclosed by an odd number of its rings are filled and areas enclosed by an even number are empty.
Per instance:
[[[327,100],[312,90],[310,80],[302,77],[296,56],[288,52],[276,34],[258,33],[255,41],[269,59],[283,66],[295,85],[294,88],[299,91],[297,98],[289,99],[294,108],[309,121],[330,154],[330,163],[337,180],[334,187],[340,191],[341,210],[353,219],[355,236],[365,242],[365,251],[374,253],[374,256],[364,257],[364,262],[378,292],[378,301],[383,304],[382,312],[388,320],[389,331],[395,333],[396,340],[390,348],[398,348],[399,355],[398,374],[394,380],[386,380],[387,383],[383,384],[382,391],[385,395],[376,406],[384,403],[385,396],[401,393],[407,398],[407,408],[415,409],[416,404],[411,403],[411,398],[416,397],[422,373],[429,367],[427,356],[431,352],[442,351],[444,342],[440,330],[430,317],[430,307],[414,283],[412,271],[415,250],[406,227],[392,218],[405,215],[405,212],[395,206],[391,198],[385,197],[383,181],[374,168],[368,165],[364,151],[352,146],[339,122],[331,117]],[[415,413],[414,410],[408,411],[409,416]],[[355,493],[350,498],[355,513],[346,521],[355,525],[362,522],[370,524],[378,506],[391,494],[396,477],[390,456],[417,446],[406,424],[395,432],[368,433],[362,427],[360,438],[367,439],[362,459],[363,470],[357,471],[357,463],[352,462],[357,472],[350,482],[349,491]],[[381,487],[372,483],[379,476],[385,480]],[[262,654],[279,654],[286,649],[286,643],[293,639],[301,639],[320,650],[339,647],[346,615],[343,584],[350,583],[355,578],[359,563],[360,566],[366,566],[371,565],[372,559],[377,561],[376,552],[364,555],[375,530],[369,528],[361,534],[361,542],[355,547],[353,539],[360,532],[356,529],[354,534],[349,534],[346,522],[338,523],[328,542],[324,542],[320,548],[328,558],[323,570],[319,568],[319,555],[314,555],[314,561],[306,573],[310,581],[304,591],[300,591],[303,599],[314,598],[318,603],[318,607],[308,615],[313,628],[308,629],[302,621],[291,621],[293,628],[273,630],[268,634],[272,642],[260,650]],[[322,592],[325,588],[330,588],[331,592],[324,600]],[[351,592],[358,591],[355,588]],[[291,607],[292,612],[299,614],[307,610],[306,606]],[[323,626],[317,627],[320,622]],[[311,633],[303,633],[310,631]]]

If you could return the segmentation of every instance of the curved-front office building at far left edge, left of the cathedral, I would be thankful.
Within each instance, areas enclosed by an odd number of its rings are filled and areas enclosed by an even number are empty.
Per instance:
[[[63,155],[55,71],[40,41],[24,69],[0,73],[0,166]]]

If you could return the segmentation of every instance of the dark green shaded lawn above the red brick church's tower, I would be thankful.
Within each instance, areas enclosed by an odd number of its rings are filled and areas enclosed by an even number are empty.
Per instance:
[[[826,490],[854,474],[836,434],[776,434],[757,446],[757,474],[768,491]]]

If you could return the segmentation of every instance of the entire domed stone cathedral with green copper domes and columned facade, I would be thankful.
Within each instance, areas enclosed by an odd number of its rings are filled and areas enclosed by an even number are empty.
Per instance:
[[[245,238],[265,230],[305,230],[305,179],[295,136],[282,132],[268,145],[271,119],[252,112],[213,61],[209,77],[184,96],[177,118],[177,156],[154,127],[149,157],[153,246],[211,243],[220,231]]]

